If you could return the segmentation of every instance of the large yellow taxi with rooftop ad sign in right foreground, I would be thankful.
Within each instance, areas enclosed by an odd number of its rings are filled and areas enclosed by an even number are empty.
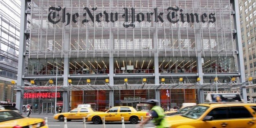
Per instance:
[[[237,95],[214,94],[212,97],[224,102],[199,104],[182,115],[165,119],[170,128],[256,128],[256,104],[243,103]],[[236,102],[227,102],[230,99]]]

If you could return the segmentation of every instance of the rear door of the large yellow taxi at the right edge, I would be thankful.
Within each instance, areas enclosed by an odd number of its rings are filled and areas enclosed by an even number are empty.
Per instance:
[[[232,128],[256,128],[256,118],[244,106],[230,108]]]

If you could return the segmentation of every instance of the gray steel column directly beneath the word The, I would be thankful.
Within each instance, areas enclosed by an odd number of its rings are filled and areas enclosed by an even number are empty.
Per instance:
[[[68,86],[69,58],[64,58],[63,86]],[[63,112],[68,112],[70,91],[63,91]]]

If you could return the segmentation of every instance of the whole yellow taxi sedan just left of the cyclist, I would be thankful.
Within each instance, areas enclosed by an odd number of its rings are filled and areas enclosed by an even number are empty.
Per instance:
[[[131,124],[137,124],[138,121],[149,117],[148,112],[137,111],[130,106],[116,106],[110,108],[106,112],[92,113],[87,115],[86,121],[93,121],[93,124],[100,124],[102,117],[105,117],[106,122],[121,121],[121,117],[124,117],[124,121],[130,121]]]

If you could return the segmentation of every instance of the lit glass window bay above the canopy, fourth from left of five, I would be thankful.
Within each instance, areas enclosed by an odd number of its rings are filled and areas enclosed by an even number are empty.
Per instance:
[[[196,57],[159,57],[159,73],[197,73]]]

